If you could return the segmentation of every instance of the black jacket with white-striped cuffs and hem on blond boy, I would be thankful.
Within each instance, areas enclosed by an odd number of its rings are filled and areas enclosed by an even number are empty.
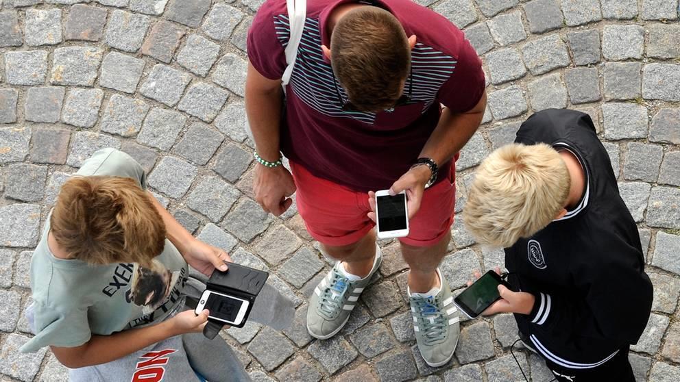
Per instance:
[[[636,344],[649,318],[652,283],[640,235],[590,116],[538,112],[522,124],[515,142],[569,149],[587,175],[576,209],[505,249],[513,290],[536,298],[531,314],[515,319],[546,359],[566,368],[594,368]]]

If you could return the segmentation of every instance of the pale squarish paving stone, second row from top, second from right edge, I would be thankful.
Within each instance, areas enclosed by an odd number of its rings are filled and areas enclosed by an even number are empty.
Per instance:
[[[643,51],[644,29],[640,25],[605,25],[602,53],[607,60],[640,59]]]

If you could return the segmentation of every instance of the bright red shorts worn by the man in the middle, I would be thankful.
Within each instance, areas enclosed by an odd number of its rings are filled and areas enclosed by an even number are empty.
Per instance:
[[[409,220],[409,235],[400,238],[411,246],[432,246],[444,238],[453,223],[456,203],[456,166],[448,179],[425,190],[420,209]],[[300,164],[291,162],[298,191],[295,203],[313,238],[330,246],[355,243],[373,229],[368,194],[315,177]],[[377,191],[377,190],[376,190]]]

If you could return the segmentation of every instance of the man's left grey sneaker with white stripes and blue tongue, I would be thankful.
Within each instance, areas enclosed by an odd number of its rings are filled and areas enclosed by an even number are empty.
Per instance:
[[[350,281],[343,275],[340,270],[341,262],[335,263],[328,275],[314,289],[309,300],[307,331],[312,337],[327,340],[345,326],[361,292],[367,287],[382,262],[383,254],[377,247],[371,272],[356,281]]]

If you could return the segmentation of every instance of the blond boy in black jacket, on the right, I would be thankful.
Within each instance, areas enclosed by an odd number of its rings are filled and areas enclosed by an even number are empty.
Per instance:
[[[482,244],[505,248],[520,337],[560,381],[635,381],[628,361],[652,284],[635,221],[590,116],[545,110],[479,166],[463,211]],[[516,292],[513,292],[516,291]]]

